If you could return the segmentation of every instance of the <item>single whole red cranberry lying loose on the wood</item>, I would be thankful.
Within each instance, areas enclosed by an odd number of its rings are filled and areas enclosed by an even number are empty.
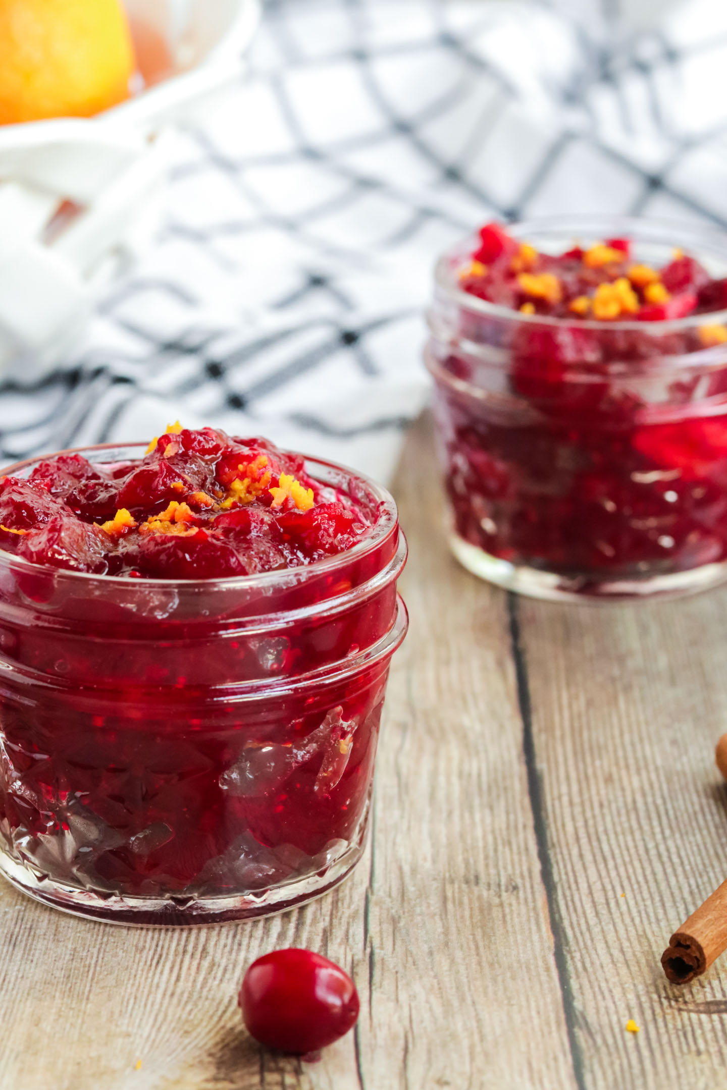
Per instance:
[[[253,961],[238,1003],[256,1041],[301,1055],[332,1044],[359,1017],[359,993],[349,974],[304,949],[272,950]]]

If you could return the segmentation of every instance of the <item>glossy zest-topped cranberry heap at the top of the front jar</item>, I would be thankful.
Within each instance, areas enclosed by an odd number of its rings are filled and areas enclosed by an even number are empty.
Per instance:
[[[254,574],[343,553],[367,530],[302,456],[210,427],[174,425],[138,464],[61,455],[0,484],[1,548],[97,574]]]

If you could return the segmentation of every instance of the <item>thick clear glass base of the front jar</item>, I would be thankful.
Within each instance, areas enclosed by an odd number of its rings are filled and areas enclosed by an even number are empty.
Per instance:
[[[274,916],[328,893],[353,871],[366,845],[366,832],[334,863],[286,885],[233,897],[126,897],[80,889],[35,873],[0,853],[0,874],[21,893],[62,912],[123,927],[210,927]]]

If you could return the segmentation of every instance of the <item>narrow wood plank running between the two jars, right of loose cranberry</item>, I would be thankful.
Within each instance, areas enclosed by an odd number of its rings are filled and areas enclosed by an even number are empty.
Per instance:
[[[505,595],[450,559],[428,424],[397,498],[411,628],[379,756],[369,1090],[573,1085],[522,760]]]

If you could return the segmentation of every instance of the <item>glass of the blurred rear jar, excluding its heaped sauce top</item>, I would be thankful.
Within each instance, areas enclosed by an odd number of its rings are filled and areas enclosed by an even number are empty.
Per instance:
[[[508,232],[561,253],[608,238],[661,267],[675,247],[727,276],[727,238],[698,227],[559,217]],[[536,597],[677,594],[727,576],[727,343],[669,322],[523,314],[464,292],[467,239],[436,267],[425,350],[451,548]],[[700,331],[702,330],[702,331]],[[723,336],[723,334],[718,334]]]

